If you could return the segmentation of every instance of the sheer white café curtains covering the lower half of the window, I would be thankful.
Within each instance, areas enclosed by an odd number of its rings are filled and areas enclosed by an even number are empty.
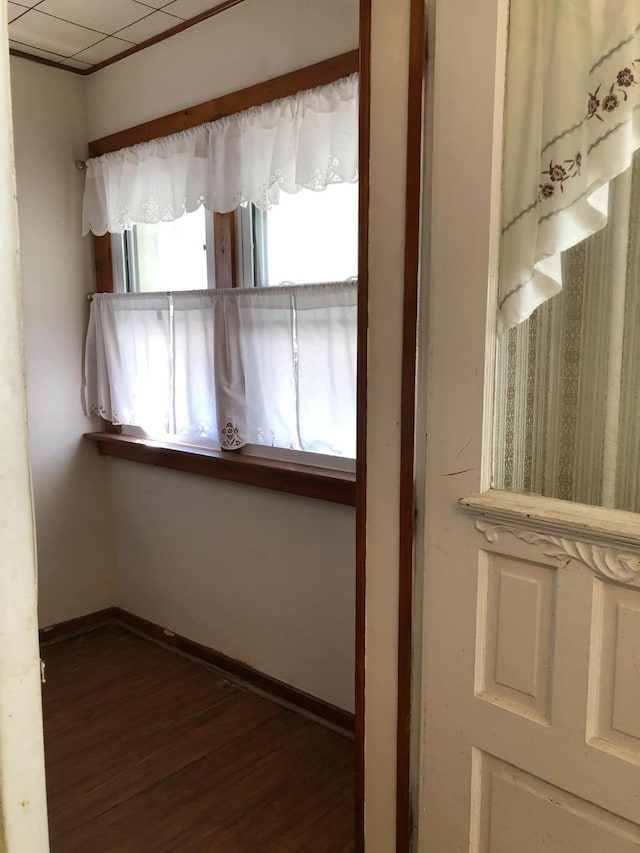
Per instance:
[[[152,436],[355,457],[357,283],[96,294],[85,409]]]

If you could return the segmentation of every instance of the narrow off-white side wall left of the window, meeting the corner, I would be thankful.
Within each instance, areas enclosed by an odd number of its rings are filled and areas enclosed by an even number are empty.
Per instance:
[[[114,603],[107,467],[83,441],[91,247],[81,237],[84,79],[12,57],[29,449],[40,624]]]

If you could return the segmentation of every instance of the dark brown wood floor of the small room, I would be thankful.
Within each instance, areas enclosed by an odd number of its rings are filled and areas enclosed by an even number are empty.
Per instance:
[[[347,853],[353,742],[122,628],[45,646],[53,853]]]

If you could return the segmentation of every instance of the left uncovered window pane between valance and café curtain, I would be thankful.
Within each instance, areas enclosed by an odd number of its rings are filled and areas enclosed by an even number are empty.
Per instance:
[[[206,218],[204,207],[199,207],[174,222],[134,226],[128,240],[129,289],[147,293],[207,288]]]

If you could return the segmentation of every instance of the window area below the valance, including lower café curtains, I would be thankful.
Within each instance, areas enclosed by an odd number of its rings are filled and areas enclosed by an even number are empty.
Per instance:
[[[117,339],[114,361],[135,365],[135,372],[120,372],[109,419],[122,421],[126,434],[181,445],[242,446],[281,459],[303,453],[331,467],[353,459],[355,302],[349,291],[323,283],[357,280],[357,182],[283,193],[268,211],[249,204],[218,216],[234,223],[234,283],[258,300],[231,313],[210,300],[180,297],[217,289],[214,216],[203,207],[112,235],[116,291],[131,299],[108,318],[96,317],[95,332],[108,338],[108,351]],[[296,286],[309,287],[309,298]],[[278,289],[283,298],[267,305],[256,288]],[[230,388],[244,403],[223,415],[220,400]]]

